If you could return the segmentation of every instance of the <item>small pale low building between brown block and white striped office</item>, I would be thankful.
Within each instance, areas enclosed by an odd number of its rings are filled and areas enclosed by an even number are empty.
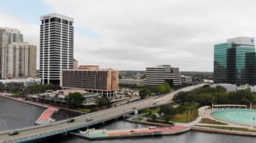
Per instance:
[[[119,84],[122,85],[137,85],[143,86],[145,83],[144,79],[140,79],[138,76],[133,77],[125,77],[123,76],[122,79],[119,79]]]

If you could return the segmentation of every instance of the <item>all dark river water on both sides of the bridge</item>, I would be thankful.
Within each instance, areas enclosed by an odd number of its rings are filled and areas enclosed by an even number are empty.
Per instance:
[[[0,97],[0,130],[7,130],[13,128],[22,128],[25,126],[32,126],[40,114],[44,111],[44,108],[26,103],[20,103],[18,101],[12,101]],[[66,118],[66,115],[73,115],[72,113],[66,113],[61,111],[59,115],[56,115],[58,119]],[[113,122],[106,122],[104,125],[94,126],[94,128],[117,130],[117,129],[131,129],[131,128],[146,128],[146,125],[131,124],[125,120],[117,120]],[[183,134],[177,134],[172,136],[153,136],[143,138],[123,138],[116,140],[96,140],[89,141],[82,138],[77,138],[73,135],[57,135],[49,138],[43,138],[40,140],[34,140],[32,142],[65,142],[65,143],[153,143],[153,142],[181,142],[181,143],[245,143],[256,142],[256,138],[247,136],[233,136],[226,134],[205,133],[197,131],[189,131]]]

